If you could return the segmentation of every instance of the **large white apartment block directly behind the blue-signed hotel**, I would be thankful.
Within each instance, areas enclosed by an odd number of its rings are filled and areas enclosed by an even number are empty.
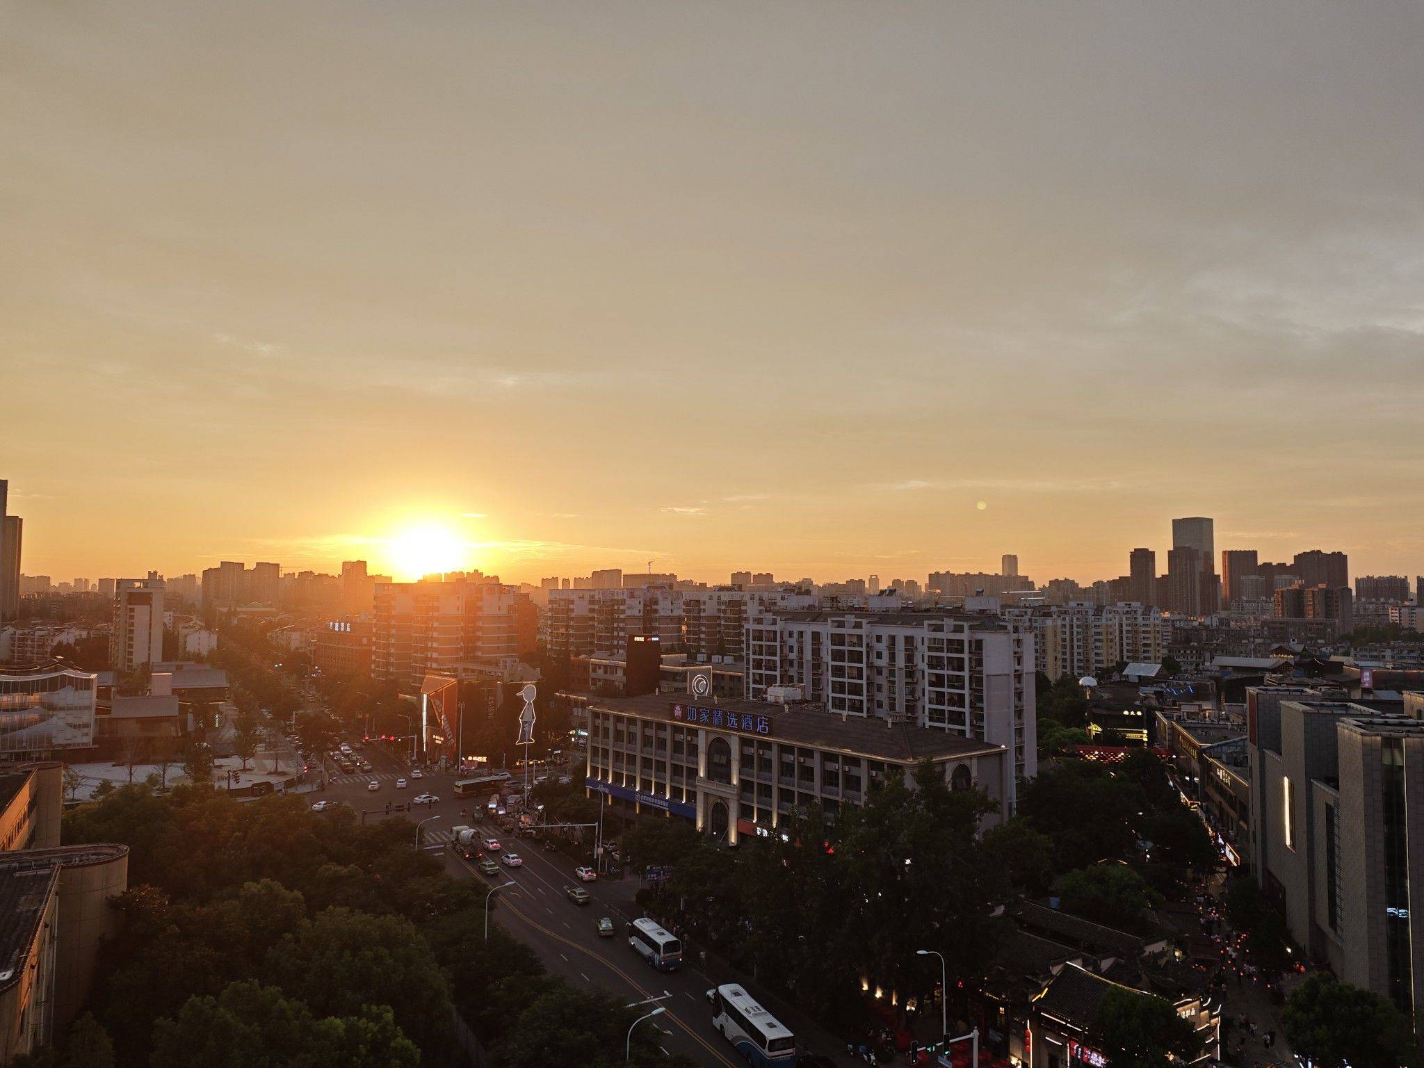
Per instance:
[[[1034,645],[1020,622],[953,612],[759,609],[746,624],[746,698],[795,686],[830,715],[914,723],[1004,746],[1038,770]],[[1010,810],[1015,785],[1005,783]]]

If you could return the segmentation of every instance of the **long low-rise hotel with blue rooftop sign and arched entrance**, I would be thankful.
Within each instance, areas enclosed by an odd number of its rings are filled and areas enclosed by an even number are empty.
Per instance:
[[[954,789],[978,786],[1010,813],[1012,760],[1001,745],[911,723],[839,716],[817,705],[591,698],[584,785],[631,812],[665,812],[735,843],[772,834],[796,807],[833,822],[870,789],[930,760]]]

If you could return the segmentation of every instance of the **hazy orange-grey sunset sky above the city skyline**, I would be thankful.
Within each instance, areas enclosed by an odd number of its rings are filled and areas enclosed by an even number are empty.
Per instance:
[[[0,13],[27,574],[1424,571],[1417,4]]]

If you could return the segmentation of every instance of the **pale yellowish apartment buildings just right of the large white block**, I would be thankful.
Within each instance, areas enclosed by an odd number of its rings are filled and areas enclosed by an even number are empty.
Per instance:
[[[1008,608],[1004,615],[1032,628],[1034,664],[1049,679],[1106,674],[1114,665],[1159,664],[1172,641],[1172,624],[1149,605],[1067,605]]]

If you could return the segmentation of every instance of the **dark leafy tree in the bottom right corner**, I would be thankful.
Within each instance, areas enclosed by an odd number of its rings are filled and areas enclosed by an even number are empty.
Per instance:
[[[1297,1057],[1321,1068],[1413,1068],[1410,1022],[1373,990],[1314,973],[1286,998],[1282,1021]]]

